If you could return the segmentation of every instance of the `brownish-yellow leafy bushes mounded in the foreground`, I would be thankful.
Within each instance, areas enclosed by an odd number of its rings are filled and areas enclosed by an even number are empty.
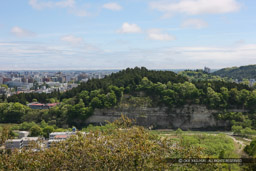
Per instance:
[[[2,152],[0,170],[163,170],[180,167],[168,158],[200,156],[200,148],[183,147],[131,126],[130,121],[117,121],[86,136],[78,133],[50,149]]]

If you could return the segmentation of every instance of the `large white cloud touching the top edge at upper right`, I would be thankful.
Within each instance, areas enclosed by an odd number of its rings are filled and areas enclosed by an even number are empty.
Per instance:
[[[165,16],[176,13],[187,15],[223,14],[235,12],[240,9],[236,0],[180,0],[180,1],[155,1],[151,2],[152,9],[165,13]]]

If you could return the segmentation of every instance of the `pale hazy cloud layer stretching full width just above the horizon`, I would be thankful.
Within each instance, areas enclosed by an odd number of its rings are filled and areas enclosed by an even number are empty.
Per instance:
[[[181,46],[106,52],[92,45],[0,42],[3,69],[222,68],[255,63],[256,44]],[[51,61],[49,63],[49,61]]]

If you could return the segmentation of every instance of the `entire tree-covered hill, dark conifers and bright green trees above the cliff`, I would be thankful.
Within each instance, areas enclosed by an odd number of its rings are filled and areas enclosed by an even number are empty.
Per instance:
[[[18,94],[0,103],[0,123],[36,122],[45,120],[58,127],[83,127],[96,108],[109,109],[120,105],[123,94],[137,97],[144,94],[147,103],[169,108],[186,104],[205,105],[211,109],[248,109],[256,111],[256,90],[247,85],[222,80],[193,80],[171,71],[146,68],[126,69],[103,79],[92,79],[65,93]],[[143,99],[132,98],[135,103]],[[49,110],[32,110],[26,103],[59,101]],[[23,104],[23,105],[22,105]],[[249,119],[255,117],[250,115]],[[247,125],[248,126],[248,125]],[[256,128],[251,122],[249,126]]]

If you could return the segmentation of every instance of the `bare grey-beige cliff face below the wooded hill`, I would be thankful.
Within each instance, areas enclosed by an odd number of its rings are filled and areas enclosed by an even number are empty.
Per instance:
[[[230,110],[232,111],[232,110]],[[234,111],[234,110],[233,110]],[[236,110],[239,112],[244,112]],[[96,109],[94,114],[86,120],[87,124],[103,124],[106,121],[114,121],[121,114],[133,118],[141,126],[154,128],[169,128],[183,130],[187,129],[225,129],[229,122],[219,121],[214,118],[214,114],[219,113],[217,110],[209,110],[201,105],[185,105],[182,108],[168,109],[150,108],[150,107],[131,107],[131,108],[114,108],[114,109]]]

